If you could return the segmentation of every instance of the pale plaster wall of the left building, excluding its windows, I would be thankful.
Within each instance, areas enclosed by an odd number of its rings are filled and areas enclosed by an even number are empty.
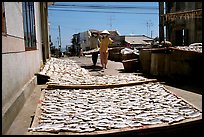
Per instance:
[[[39,4],[35,3],[37,50],[25,51],[21,2],[5,2],[6,35],[2,35],[2,132],[12,124],[37,81],[42,65]]]

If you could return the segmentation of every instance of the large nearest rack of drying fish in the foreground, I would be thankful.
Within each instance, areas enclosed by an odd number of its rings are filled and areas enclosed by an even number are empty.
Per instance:
[[[94,132],[173,124],[202,112],[159,83],[107,89],[43,89],[39,125],[29,131]]]

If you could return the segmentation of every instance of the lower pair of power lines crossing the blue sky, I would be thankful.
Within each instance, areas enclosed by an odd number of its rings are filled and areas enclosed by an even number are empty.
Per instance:
[[[69,9],[51,9],[53,11],[72,11],[72,12],[93,12],[93,13],[122,13],[122,14],[159,14],[156,12],[120,12],[120,11],[96,11],[96,10],[69,10]]]

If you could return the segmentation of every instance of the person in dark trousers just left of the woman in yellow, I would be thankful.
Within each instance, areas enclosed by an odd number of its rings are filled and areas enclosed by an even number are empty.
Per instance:
[[[92,50],[96,50],[96,52],[93,52],[92,53],[92,62],[93,62],[93,65],[96,66],[96,62],[97,62],[97,59],[98,59],[98,48],[99,48],[99,44],[100,44],[100,41],[99,41],[99,34],[98,32],[96,31],[93,31],[91,33],[91,37],[90,37],[90,48]]]

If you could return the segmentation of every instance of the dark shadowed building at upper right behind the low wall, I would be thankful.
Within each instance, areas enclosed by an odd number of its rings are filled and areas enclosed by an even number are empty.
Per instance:
[[[173,46],[202,42],[202,2],[165,2],[166,39]]]

